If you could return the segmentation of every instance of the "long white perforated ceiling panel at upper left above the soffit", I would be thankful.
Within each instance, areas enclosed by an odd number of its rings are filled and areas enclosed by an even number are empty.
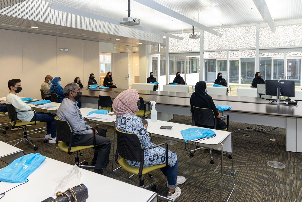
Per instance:
[[[163,37],[160,35],[52,10],[48,7],[48,2],[40,0],[27,0],[0,9],[0,15],[8,15],[16,18],[45,22],[48,23],[47,28],[50,29],[52,28],[53,24],[61,25],[64,27],[101,32],[110,35],[136,38],[145,41],[153,41],[156,43],[163,42]],[[1,22],[1,24],[4,23]],[[65,31],[63,31],[62,33],[65,33]]]

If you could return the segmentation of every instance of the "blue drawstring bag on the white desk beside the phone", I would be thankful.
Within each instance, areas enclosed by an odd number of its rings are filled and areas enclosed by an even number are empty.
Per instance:
[[[196,140],[196,139],[206,139],[210,137],[215,137],[215,132],[208,128],[188,128],[180,131],[182,133],[182,137],[185,142],[188,140]]]

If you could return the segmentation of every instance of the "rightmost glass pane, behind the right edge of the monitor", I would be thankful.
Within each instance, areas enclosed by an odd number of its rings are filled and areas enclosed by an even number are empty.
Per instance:
[[[301,85],[301,59],[287,59],[287,80],[294,80],[295,85]]]

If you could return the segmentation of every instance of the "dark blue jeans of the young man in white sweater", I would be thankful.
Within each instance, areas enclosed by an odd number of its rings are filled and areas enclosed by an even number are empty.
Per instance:
[[[36,120],[46,122],[46,133],[51,134],[51,138],[56,137],[55,117],[56,115],[51,113],[36,112]],[[35,118],[33,117],[31,121],[35,121]]]

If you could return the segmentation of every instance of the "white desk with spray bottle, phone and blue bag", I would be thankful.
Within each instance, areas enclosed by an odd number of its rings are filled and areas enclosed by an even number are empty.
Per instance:
[[[188,128],[202,128],[197,126],[190,126],[185,124],[178,124],[172,123],[167,121],[159,121],[151,122],[151,119],[146,119],[148,121],[148,132],[153,134],[156,137],[162,137],[165,139],[172,139],[175,141],[184,142],[184,138],[182,137],[182,133],[180,131],[188,129]],[[160,129],[161,126],[172,126],[171,129]],[[191,142],[197,142],[199,146],[214,149],[221,151],[221,170],[220,170],[220,202],[222,201],[222,167],[223,167],[223,152],[227,152],[233,154],[232,150],[232,133],[228,131],[220,131],[214,130],[216,136],[204,140],[191,140]],[[233,156],[233,155],[232,155]],[[233,191],[235,189],[235,182],[234,182],[234,164],[233,164],[233,157],[232,157],[232,173],[233,173],[233,190],[231,191],[228,199],[230,199]]]

